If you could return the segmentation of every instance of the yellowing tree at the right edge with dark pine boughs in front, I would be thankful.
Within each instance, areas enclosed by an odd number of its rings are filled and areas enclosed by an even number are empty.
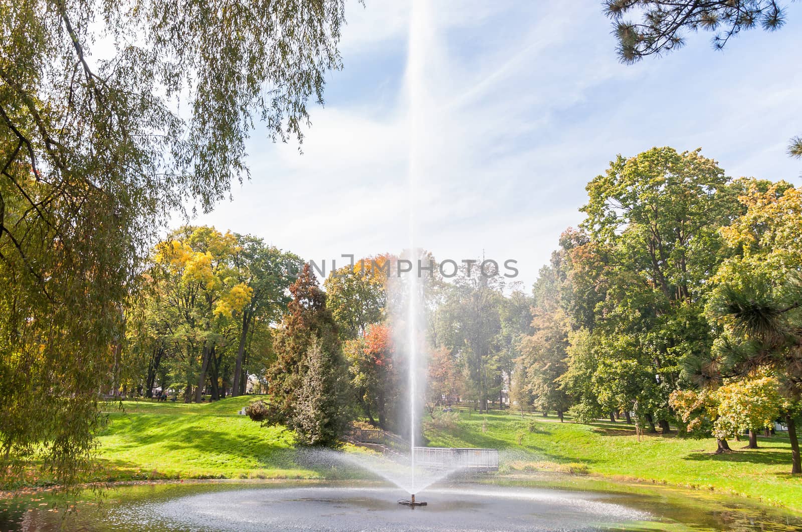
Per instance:
[[[723,330],[713,361],[723,374],[770,369],[786,399],[784,417],[792,445],[792,474],[802,473],[796,418],[802,398],[802,191],[788,183],[751,187],[747,207],[722,230],[734,251],[721,264],[707,303],[711,322]]]

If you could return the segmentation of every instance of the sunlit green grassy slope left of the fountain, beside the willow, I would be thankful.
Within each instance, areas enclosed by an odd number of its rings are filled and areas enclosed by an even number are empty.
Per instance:
[[[291,433],[237,415],[251,400],[124,401],[124,412],[111,409],[99,434],[96,478],[318,478],[294,464]]]

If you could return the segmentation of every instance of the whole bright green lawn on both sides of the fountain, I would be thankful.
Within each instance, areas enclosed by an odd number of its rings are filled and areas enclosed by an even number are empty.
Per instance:
[[[291,433],[237,415],[253,397],[211,404],[124,401],[99,434],[95,480],[160,478],[326,478],[329,470],[297,465]],[[501,474],[533,471],[590,474],[737,494],[802,511],[802,478],[788,471],[784,436],[759,438],[760,449],[713,455],[715,441],[649,435],[638,441],[624,423],[578,425],[516,413],[462,411],[450,426],[427,424],[429,445],[500,449]],[[353,452],[354,449],[349,449]],[[342,474],[342,471],[336,472]]]

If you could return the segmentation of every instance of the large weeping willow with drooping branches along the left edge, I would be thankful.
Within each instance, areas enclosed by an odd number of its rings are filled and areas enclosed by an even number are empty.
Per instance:
[[[171,212],[302,139],[342,0],[0,0],[0,481],[91,467],[140,261]],[[266,133],[265,133],[266,132]]]

